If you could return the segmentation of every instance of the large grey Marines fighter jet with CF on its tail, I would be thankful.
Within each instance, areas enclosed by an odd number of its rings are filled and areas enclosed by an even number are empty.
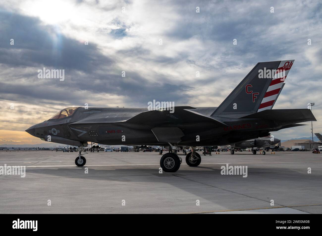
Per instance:
[[[227,145],[270,136],[307,121],[316,121],[309,109],[271,110],[285,85],[294,60],[260,62],[218,107],[175,106],[161,108],[68,107],[26,132],[45,141],[80,147],[77,166],[87,142],[107,145],[191,146],[186,155],[189,166],[198,166],[196,146]],[[267,78],[260,71],[274,71]],[[265,74],[266,75],[266,74]],[[172,113],[172,111],[174,111]],[[171,151],[171,149],[169,149]],[[169,152],[160,165],[166,172],[179,169],[182,159]]]

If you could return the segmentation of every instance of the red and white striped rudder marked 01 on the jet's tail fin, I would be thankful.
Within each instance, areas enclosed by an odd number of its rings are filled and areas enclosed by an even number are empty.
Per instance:
[[[279,63],[277,73],[274,75],[274,78],[270,82],[270,86],[268,87],[265,96],[260,103],[258,112],[273,108],[273,105],[279,95],[279,92],[283,84],[285,83],[286,76],[293,65],[293,62],[294,60],[287,60],[281,61]]]

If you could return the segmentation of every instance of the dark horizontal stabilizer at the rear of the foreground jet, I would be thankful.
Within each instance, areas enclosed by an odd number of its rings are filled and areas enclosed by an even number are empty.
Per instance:
[[[274,109],[264,110],[240,117],[240,119],[264,119],[274,121],[294,121],[301,123],[307,121],[316,121],[310,109]]]

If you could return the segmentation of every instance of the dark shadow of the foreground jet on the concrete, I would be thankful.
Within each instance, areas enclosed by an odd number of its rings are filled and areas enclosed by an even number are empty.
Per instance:
[[[59,169],[28,168],[26,174],[34,173],[54,177],[78,178],[80,181],[85,178],[87,180],[129,182],[129,189],[133,189],[136,183],[146,183],[151,188],[155,188],[156,184],[161,184],[161,186],[164,186],[164,191],[171,191],[171,186],[169,187],[168,185],[172,185],[183,190],[180,193],[187,192],[191,194],[185,193],[184,195],[176,196],[177,198],[186,200],[187,195],[190,199],[192,196],[196,199],[201,198],[218,206],[219,209],[236,210],[251,207],[273,208],[280,205],[321,204],[320,202],[314,202],[314,200],[312,202],[312,199],[320,199],[322,189],[321,175],[308,174],[305,168],[251,167],[248,168],[248,177],[242,177],[242,175],[221,175],[221,166],[216,164],[213,167],[182,167],[178,172],[163,172],[163,174],[158,173],[158,168],[148,167],[127,167],[113,170],[89,168],[89,174],[84,173],[86,166]],[[145,196],[147,191],[151,192],[153,190],[147,188],[142,191],[142,196]],[[113,193],[109,194],[113,195]],[[160,195],[156,197],[160,197]],[[276,201],[275,206],[270,206],[271,199]]]

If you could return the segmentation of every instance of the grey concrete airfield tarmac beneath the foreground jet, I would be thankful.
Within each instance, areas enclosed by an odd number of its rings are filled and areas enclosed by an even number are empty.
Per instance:
[[[24,178],[0,176],[0,212],[322,213],[322,154],[275,153],[200,153],[189,167],[179,152],[180,169],[159,174],[156,152],[92,152],[76,167],[77,152],[0,151],[0,166],[26,166]],[[221,175],[226,164],[247,177]]]

